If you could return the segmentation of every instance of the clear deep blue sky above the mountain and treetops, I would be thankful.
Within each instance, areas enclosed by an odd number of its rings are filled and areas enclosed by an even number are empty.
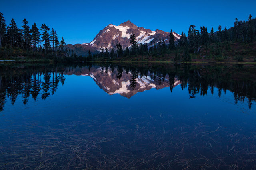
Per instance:
[[[171,0],[0,0],[0,12],[7,23],[14,18],[18,27],[24,18],[30,26],[45,23],[56,29],[66,43],[88,43],[108,24],[120,25],[130,20],[152,31],[188,32],[189,24],[211,27],[232,27],[234,19],[256,17],[256,0],[171,1]]]

